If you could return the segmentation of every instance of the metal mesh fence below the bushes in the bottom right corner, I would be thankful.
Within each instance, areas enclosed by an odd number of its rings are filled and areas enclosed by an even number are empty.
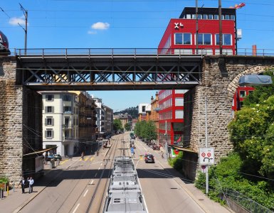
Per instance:
[[[243,209],[252,213],[273,213],[270,209],[264,207],[263,205],[251,200],[251,198],[246,197],[240,192],[234,190],[223,189],[223,193],[226,197],[229,197],[233,202],[236,202]]]

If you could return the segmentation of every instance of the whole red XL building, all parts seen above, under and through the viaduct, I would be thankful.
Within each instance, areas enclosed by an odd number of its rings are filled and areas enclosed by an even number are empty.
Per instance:
[[[159,43],[158,52],[218,55],[220,53],[218,8],[199,8],[197,17],[196,19],[196,8],[186,7],[179,18],[172,18]],[[241,30],[238,30],[237,34],[236,9],[222,9],[221,19],[223,54],[236,55],[237,40],[241,38]],[[239,109],[238,105],[241,104],[242,98],[252,89],[252,87],[238,88],[233,99],[233,110]],[[168,144],[183,141],[184,92],[186,90],[183,89],[159,91],[159,143],[164,144],[166,140]]]

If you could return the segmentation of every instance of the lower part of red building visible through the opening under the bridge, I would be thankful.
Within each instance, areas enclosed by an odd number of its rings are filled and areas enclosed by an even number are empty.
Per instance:
[[[183,141],[185,89],[159,92],[159,143]],[[167,133],[167,136],[165,136]]]

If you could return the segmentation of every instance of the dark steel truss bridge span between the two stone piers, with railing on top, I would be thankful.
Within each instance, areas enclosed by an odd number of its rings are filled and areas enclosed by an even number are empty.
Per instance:
[[[35,90],[191,89],[202,55],[157,49],[28,49],[16,51],[17,76]]]

